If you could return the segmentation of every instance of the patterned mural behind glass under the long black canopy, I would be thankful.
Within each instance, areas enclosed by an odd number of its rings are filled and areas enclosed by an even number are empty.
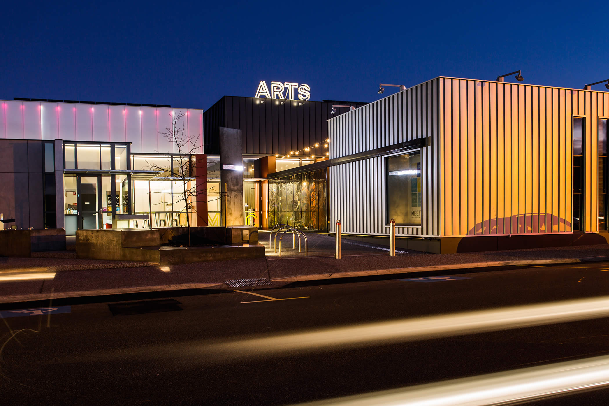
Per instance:
[[[326,169],[269,181],[269,228],[328,231]]]

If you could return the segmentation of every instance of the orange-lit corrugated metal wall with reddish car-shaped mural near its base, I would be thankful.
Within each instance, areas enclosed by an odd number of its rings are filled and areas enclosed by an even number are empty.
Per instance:
[[[572,117],[585,117],[585,231],[598,231],[609,93],[440,78],[444,236],[570,232]],[[424,214],[423,214],[424,215]]]

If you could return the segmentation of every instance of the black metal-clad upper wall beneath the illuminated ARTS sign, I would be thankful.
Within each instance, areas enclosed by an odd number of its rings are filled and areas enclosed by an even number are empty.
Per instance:
[[[356,108],[364,105],[351,104]],[[228,127],[242,131],[243,153],[283,155],[317,143],[320,147],[310,153],[323,155],[327,151],[321,144],[328,139],[327,120],[349,110],[337,107],[336,114],[330,114],[332,105],[309,101],[299,106],[295,100],[278,99],[260,103],[255,97],[224,96],[205,111],[205,152],[219,152],[219,127]],[[219,108],[223,110],[220,113]]]

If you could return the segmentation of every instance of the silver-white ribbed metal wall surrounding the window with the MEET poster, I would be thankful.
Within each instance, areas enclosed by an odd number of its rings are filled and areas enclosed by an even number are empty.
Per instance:
[[[439,79],[421,83],[329,121],[330,158],[426,138],[422,159],[422,225],[398,227],[397,234],[439,236],[437,140]],[[385,158],[375,157],[329,168],[330,226],[342,232],[389,234],[385,228]]]

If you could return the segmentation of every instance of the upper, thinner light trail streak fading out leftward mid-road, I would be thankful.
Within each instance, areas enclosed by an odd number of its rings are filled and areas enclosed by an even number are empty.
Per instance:
[[[204,346],[203,352],[323,351],[609,317],[609,296],[331,327]]]

